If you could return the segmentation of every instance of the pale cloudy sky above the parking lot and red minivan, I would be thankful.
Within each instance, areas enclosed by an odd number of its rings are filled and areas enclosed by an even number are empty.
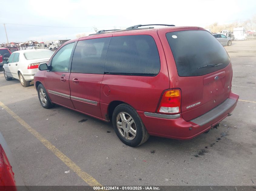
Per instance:
[[[256,14],[255,0],[82,1],[0,0],[0,43],[74,39],[77,34],[125,29],[137,24],[205,27]]]

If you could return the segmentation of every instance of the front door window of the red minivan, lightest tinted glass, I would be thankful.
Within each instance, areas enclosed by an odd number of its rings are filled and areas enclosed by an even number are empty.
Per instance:
[[[68,71],[69,60],[75,43],[63,46],[52,58],[51,71]]]

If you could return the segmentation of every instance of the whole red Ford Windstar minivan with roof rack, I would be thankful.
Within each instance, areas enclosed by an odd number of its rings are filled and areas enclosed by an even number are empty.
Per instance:
[[[217,126],[239,97],[226,50],[200,27],[146,26],[63,44],[34,77],[42,107],[112,121],[133,147],[149,135],[190,139]]]

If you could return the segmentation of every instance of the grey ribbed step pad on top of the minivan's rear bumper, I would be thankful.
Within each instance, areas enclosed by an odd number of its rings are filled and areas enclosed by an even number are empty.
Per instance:
[[[236,103],[236,100],[232,100],[228,98],[224,102],[219,104],[217,107],[214,107],[212,110],[190,121],[200,126],[203,126],[206,123],[209,123],[211,120],[217,118],[218,116],[221,116],[223,113],[228,111],[231,107],[234,106],[235,103]]]

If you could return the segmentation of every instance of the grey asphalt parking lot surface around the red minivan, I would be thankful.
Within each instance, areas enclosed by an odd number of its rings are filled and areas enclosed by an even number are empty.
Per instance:
[[[232,115],[218,129],[191,140],[151,136],[136,148],[124,145],[111,123],[61,106],[44,109],[33,85],[23,88],[18,80],[6,81],[0,73],[0,102],[14,112],[0,107],[0,131],[25,185],[88,185],[89,180],[81,177],[90,175],[105,186],[254,186],[256,40],[234,41],[225,48],[233,66],[232,91],[240,95]],[[71,162],[61,160],[44,140]]]

